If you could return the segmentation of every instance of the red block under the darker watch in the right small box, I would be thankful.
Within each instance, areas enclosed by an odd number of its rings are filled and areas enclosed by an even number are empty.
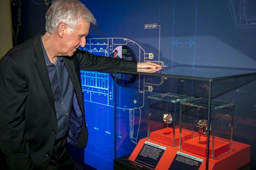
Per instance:
[[[206,137],[201,135],[182,142],[182,150],[206,157]],[[230,150],[230,143],[221,140],[214,140],[214,158]],[[209,142],[209,158],[212,156],[212,139]]]

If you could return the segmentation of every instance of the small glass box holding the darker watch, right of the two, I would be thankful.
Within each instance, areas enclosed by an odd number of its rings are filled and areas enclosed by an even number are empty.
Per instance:
[[[181,102],[180,131],[189,133],[189,139],[180,137],[179,149],[206,157],[209,133],[209,158],[214,159],[231,151],[234,103],[212,99],[210,124],[208,104],[206,98]]]

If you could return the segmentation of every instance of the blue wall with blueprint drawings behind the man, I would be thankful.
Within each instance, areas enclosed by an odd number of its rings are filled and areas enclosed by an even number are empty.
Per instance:
[[[256,69],[256,1],[81,1],[98,23],[91,26],[83,48],[94,54],[110,56],[116,46],[126,44],[138,61],[165,66]],[[45,28],[44,16],[50,3],[45,4],[44,0],[12,3],[14,45]],[[154,57],[149,59],[149,56]],[[82,161],[96,169],[113,169],[114,81],[110,74],[99,72],[81,71],[81,76],[89,130]],[[137,101],[140,98],[140,95],[135,97]],[[81,153],[74,155],[77,160],[83,157]]]

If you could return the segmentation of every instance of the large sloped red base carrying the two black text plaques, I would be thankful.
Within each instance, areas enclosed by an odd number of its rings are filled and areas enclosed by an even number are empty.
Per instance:
[[[168,170],[173,159],[176,156],[177,151],[203,159],[203,162],[199,170],[206,169],[205,157],[194,154],[194,153],[190,153],[184,150],[179,150],[178,147],[173,148],[169,145],[148,140],[147,138],[143,138],[138,142],[138,144],[136,145],[135,149],[133,150],[132,154],[129,157],[130,161],[135,162],[136,157],[140,153],[140,150],[142,149],[146,141],[166,147],[166,150],[164,151],[161,159],[159,160],[159,163],[157,164],[155,170]],[[233,141],[232,150],[230,152],[227,152],[221,156],[218,156],[215,159],[209,159],[208,169],[209,170],[219,170],[219,169],[236,170],[250,162],[250,150],[251,150],[250,145]],[[140,164],[138,162],[136,163]]]

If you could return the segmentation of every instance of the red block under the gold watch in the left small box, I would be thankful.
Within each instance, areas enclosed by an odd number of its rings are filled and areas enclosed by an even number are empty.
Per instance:
[[[174,146],[179,145],[179,128],[175,129],[175,142]],[[191,133],[181,132],[181,142],[184,140],[188,140],[192,137]],[[163,143],[165,145],[173,146],[173,129],[170,127],[160,129],[150,133],[150,140],[154,140],[159,143]]]

